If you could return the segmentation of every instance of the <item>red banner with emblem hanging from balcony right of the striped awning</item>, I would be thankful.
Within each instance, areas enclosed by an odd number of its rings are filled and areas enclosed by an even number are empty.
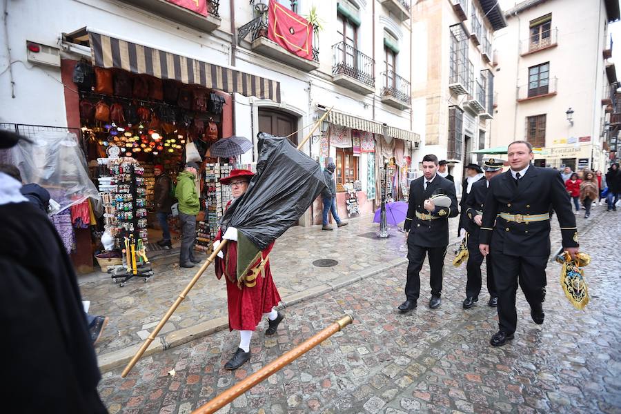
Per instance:
[[[275,0],[270,0],[268,39],[294,55],[313,60],[313,26]]]

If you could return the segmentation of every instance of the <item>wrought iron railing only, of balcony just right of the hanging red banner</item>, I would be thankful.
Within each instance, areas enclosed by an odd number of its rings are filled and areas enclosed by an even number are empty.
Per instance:
[[[375,87],[375,60],[364,55],[356,48],[339,41],[332,46],[334,63],[333,75],[347,75],[353,77],[368,86]]]

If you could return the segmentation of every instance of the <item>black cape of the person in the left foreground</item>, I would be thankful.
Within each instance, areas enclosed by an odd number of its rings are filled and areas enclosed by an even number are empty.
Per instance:
[[[106,413],[77,278],[56,229],[26,201],[0,206],[0,228],[2,411]]]

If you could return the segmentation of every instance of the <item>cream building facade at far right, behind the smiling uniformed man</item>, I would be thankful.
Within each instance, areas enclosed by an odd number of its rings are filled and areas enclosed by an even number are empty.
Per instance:
[[[522,1],[495,34],[493,146],[525,139],[535,165],[603,170],[618,87],[609,23],[616,0]]]

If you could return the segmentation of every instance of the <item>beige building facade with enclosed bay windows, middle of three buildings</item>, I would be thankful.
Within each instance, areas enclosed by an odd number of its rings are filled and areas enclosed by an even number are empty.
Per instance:
[[[417,2],[412,20],[413,108],[425,114],[415,126],[424,130],[419,154],[449,160],[459,183],[464,167],[481,159],[470,151],[489,144],[497,83],[492,39],[504,16],[497,1],[430,0]]]

